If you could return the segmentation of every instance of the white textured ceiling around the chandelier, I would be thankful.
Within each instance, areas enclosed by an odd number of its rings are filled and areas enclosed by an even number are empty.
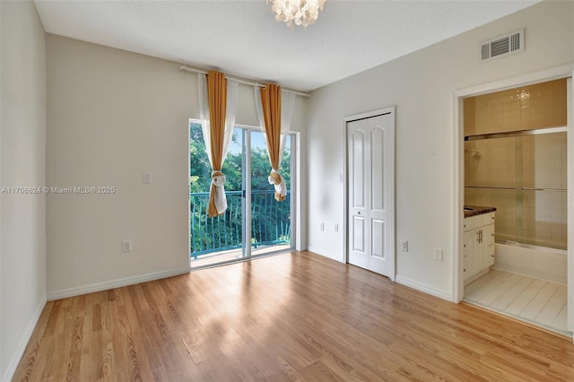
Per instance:
[[[251,1],[42,1],[49,33],[310,91],[539,0],[328,0],[290,30]]]

